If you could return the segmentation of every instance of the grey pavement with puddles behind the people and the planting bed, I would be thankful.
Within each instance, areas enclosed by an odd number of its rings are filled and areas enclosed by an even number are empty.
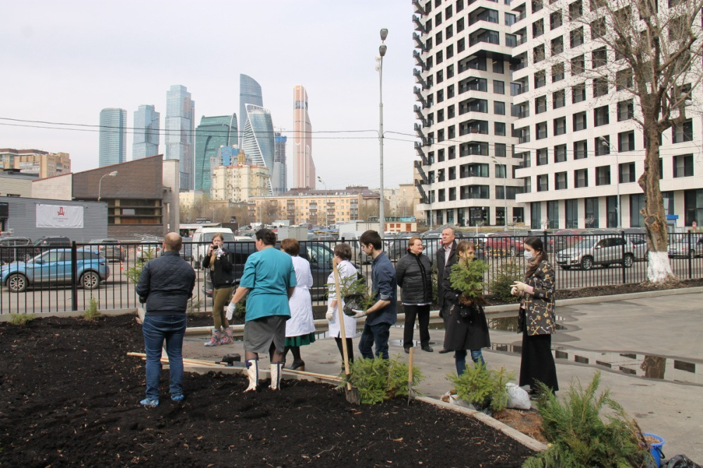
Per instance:
[[[553,347],[562,353],[560,356],[565,356],[557,359],[557,376],[562,389],[557,396],[565,396],[569,382],[578,380],[588,385],[595,370],[600,369],[601,389],[610,388],[614,399],[631,417],[637,418],[645,432],[664,438],[666,457],[683,453],[703,463],[703,292],[682,290],[675,295],[634,295],[614,301],[603,298],[601,302],[585,304],[569,301],[568,305],[557,303],[557,314],[566,327],[553,338]],[[510,315],[511,312],[503,312],[496,316]],[[361,326],[363,323],[359,321],[359,328]],[[407,359],[402,336],[402,326],[392,327],[390,352]],[[425,376],[416,389],[425,396],[439,399],[451,387],[446,375],[455,370],[451,353],[438,354],[444,330],[430,330],[430,336],[433,353],[415,348],[414,363]],[[241,342],[204,347],[205,340],[205,335],[188,335],[183,345],[184,356],[214,361],[229,352],[243,355]],[[354,340],[356,356],[359,355],[358,342],[357,337]],[[491,342],[494,347],[502,345],[499,348],[508,351],[484,349],[489,367],[505,367],[517,377],[520,356],[510,350],[520,346],[522,336],[491,330]],[[302,347],[301,352],[306,370],[331,375],[340,372],[340,354],[333,339],[318,339],[313,345]],[[612,363],[612,359],[617,360],[619,356],[624,362]],[[645,361],[651,363],[652,356],[654,368],[647,370]],[[596,366],[595,361],[610,363],[611,368]],[[633,363],[638,365],[633,366]],[[264,369],[268,367],[265,358],[262,364]],[[619,370],[621,364],[629,373]],[[640,377],[645,373],[662,372],[664,380]],[[672,381],[682,372],[692,383]]]

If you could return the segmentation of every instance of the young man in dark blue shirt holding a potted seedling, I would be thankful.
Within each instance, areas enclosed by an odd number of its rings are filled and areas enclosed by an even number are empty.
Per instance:
[[[376,302],[364,311],[356,313],[355,317],[366,316],[363,325],[359,352],[366,359],[373,359],[372,345],[376,348],[376,356],[388,359],[388,337],[390,328],[396,322],[396,300],[398,283],[395,269],[382,250],[381,236],[375,231],[366,231],[359,238],[361,250],[373,258],[371,265],[372,292]]]

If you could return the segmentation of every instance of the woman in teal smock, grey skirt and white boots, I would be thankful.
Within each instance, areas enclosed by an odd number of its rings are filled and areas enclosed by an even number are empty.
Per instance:
[[[249,387],[257,389],[259,353],[270,353],[271,389],[278,389],[285,351],[285,321],[290,319],[288,299],[295,290],[295,269],[285,252],[273,248],[276,234],[271,229],[257,231],[257,253],[247,258],[239,287],[227,307],[231,316],[237,302],[247,297],[244,326],[244,352]]]

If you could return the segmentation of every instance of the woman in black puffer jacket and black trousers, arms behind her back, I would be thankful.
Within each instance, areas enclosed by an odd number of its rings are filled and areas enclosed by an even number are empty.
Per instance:
[[[423,240],[412,237],[408,241],[408,253],[398,260],[396,279],[401,287],[402,304],[405,311],[403,347],[409,353],[413,347],[415,316],[420,321],[420,347],[432,352],[430,347],[430,305],[432,304],[432,261],[423,254]]]

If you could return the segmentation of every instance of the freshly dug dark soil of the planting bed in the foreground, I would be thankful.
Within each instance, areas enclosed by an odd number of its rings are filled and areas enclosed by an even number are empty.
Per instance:
[[[141,408],[134,316],[0,324],[0,464],[6,467],[519,467],[531,450],[477,420],[395,399],[350,406],[329,385],[186,374],[173,403]],[[264,360],[267,363],[267,361]]]

